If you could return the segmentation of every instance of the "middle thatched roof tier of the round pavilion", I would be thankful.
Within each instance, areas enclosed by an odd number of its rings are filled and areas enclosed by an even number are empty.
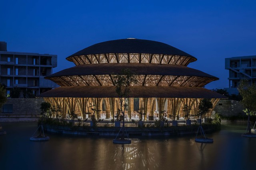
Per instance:
[[[150,63],[100,63],[100,64],[83,64],[67,68],[65,70],[46,76],[46,79],[50,77],[58,76],[84,76],[84,75],[109,75],[109,74],[121,74],[122,69],[129,69],[136,75],[170,75],[170,76],[198,76],[218,78],[206,74],[200,70],[189,68],[182,65],[175,64],[150,64]]]

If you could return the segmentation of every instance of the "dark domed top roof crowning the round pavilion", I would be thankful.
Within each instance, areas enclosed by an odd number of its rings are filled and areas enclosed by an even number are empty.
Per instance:
[[[69,57],[80,55],[96,55],[96,54],[113,54],[113,53],[137,53],[137,54],[162,54],[162,55],[178,55],[196,58],[184,51],[181,51],[168,44],[158,41],[151,41],[145,39],[117,39],[112,41],[105,41],[87,47]],[[67,59],[69,58],[67,57]]]

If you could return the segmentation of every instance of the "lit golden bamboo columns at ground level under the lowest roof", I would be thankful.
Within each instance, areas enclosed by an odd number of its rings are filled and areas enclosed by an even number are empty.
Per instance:
[[[96,119],[100,119],[100,114],[106,114],[106,119],[114,119],[117,109],[119,108],[118,98],[44,98],[54,108],[61,108],[58,110],[58,115],[65,118],[71,111],[78,114],[82,119],[86,118],[86,114],[92,115],[90,104],[95,105],[97,110]],[[174,119],[174,116],[184,117],[185,111],[183,108],[185,105],[189,108],[189,115],[197,115],[198,103],[202,99],[197,98],[139,98],[140,108],[144,108],[144,119],[147,116],[160,116],[161,111],[166,110],[169,118]],[[128,120],[132,119],[132,114],[135,113],[133,98],[128,98]],[[219,99],[212,99],[211,102],[215,107]],[[106,110],[102,109],[102,104],[106,105]],[[156,103],[158,105],[158,112]],[[167,107],[165,107],[167,105]],[[207,117],[210,117],[212,110],[207,113]],[[56,115],[55,115],[56,116]]]

